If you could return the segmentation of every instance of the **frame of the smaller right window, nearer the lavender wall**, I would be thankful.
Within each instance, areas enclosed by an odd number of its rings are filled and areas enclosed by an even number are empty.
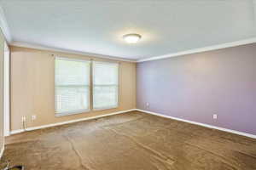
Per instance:
[[[102,108],[95,108],[94,107],[94,65],[95,63],[102,63],[102,64],[109,64],[109,65],[113,65],[113,64],[116,64],[118,65],[118,71],[117,71],[117,78],[118,78],[118,84],[117,85],[96,85],[96,86],[116,86],[116,98],[117,98],[117,104],[116,105],[113,105],[113,106],[110,106],[110,107],[102,107]],[[98,60],[93,60],[93,62],[91,63],[91,108],[92,108],[92,111],[104,111],[104,110],[109,110],[109,109],[117,109],[119,107],[119,69],[120,69],[120,66],[119,66],[119,62],[111,62],[111,61],[98,61]]]

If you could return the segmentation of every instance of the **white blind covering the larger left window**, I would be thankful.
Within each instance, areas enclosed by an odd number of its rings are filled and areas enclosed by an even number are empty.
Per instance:
[[[55,58],[55,114],[90,110],[90,61]]]

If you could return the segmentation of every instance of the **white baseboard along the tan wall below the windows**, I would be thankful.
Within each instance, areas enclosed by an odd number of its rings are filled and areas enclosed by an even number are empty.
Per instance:
[[[137,110],[136,109],[131,109],[131,110],[125,110],[125,111],[117,111],[117,112],[108,113],[108,114],[105,114],[105,115],[85,117],[85,118],[75,119],[75,120],[67,121],[67,122],[57,122],[57,123],[52,123],[52,124],[43,125],[43,126],[39,126],[39,127],[27,127],[26,131],[38,130],[38,129],[42,129],[42,128],[46,128],[46,127],[55,127],[55,126],[60,126],[60,125],[69,124],[69,123],[73,123],[73,122],[82,122],[82,121],[87,121],[87,120],[91,120],[91,119],[101,118],[101,117],[104,117],[104,116],[113,116],[113,115],[118,115],[118,114],[121,114],[121,113],[126,113],[126,112],[129,112],[129,111],[137,111]],[[11,131],[10,134],[23,133],[23,132],[25,132],[24,129],[18,129],[18,130]]]

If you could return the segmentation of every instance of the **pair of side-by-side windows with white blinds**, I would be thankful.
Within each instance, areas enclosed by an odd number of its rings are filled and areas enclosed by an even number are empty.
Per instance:
[[[55,58],[56,116],[118,107],[119,64],[94,61],[91,70],[89,60]]]

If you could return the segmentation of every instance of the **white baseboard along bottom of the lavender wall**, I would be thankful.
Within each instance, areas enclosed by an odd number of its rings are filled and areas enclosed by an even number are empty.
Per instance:
[[[173,117],[173,116],[165,116],[165,115],[162,115],[160,113],[155,113],[153,111],[144,111],[144,110],[140,110],[140,109],[136,109],[136,111],[142,111],[144,113],[148,113],[148,114],[155,115],[155,116],[162,116],[162,117],[166,117],[166,118],[181,121],[181,122],[189,122],[191,124],[199,125],[199,126],[202,126],[202,127],[214,128],[214,129],[218,129],[218,130],[221,130],[221,131],[224,131],[224,132],[235,133],[235,134],[239,134],[241,136],[246,136],[246,137],[249,137],[249,138],[252,138],[252,139],[256,139],[256,135],[250,134],[250,133],[242,133],[242,132],[239,132],[239,131],[236,131],[236,130],[231,130],[231,129],[224,128],[224,127],[215,127],[215,126],[208,125],[208,124],[201,123],[201,122],[193,122],[193,121],[188,121],[188,120]]]

